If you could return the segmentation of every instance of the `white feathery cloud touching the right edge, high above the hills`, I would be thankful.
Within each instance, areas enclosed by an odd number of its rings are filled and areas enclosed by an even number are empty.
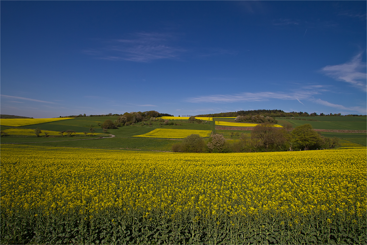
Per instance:
[[[348,82],[356,88],[367,91],[366,63],[362,62],[362,53],[353,57],[352,60],[347,63],[340,65],[327,65],[321,69],[321,72],[328,77]]]

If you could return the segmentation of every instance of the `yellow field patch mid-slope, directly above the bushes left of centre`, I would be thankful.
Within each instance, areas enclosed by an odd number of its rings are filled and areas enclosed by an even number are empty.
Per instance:
[[[168,129],[168,128],[156,128],[146,134],[134,135],[133,137],[148,137],[148,138],[174,138],[183,139],[190,134],[198,134],[201,137],[209,137],[210,130],[192,130],[192,129]]]

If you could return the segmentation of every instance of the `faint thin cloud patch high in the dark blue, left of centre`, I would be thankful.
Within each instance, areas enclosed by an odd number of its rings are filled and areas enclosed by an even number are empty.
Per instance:
[[[113,39],[101,49],[84,50],[84,53],[106,60],[149,62],[159,59],[177,59],[185,49],[172,45],[171,33],[138,32],[129,39]]]

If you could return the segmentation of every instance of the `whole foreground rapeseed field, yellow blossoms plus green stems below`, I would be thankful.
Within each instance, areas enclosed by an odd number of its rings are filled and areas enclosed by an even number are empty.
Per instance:
[[[3,145],[0,166],[2,241],[23,241],[24,232],[35,244],[366,244],[366,148],[221,154]]]

